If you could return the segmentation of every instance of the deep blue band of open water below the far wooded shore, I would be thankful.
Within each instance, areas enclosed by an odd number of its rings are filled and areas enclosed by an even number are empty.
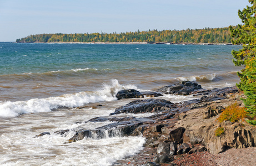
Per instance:
[[[210,64],[218,61],[227,61],[227,64],[214,64],[211,70],[218,70],[216,66],[229,69],[233,66],[232,61],[229,61],[232,58],[231,50],[240,48],[234,45],[39,43],[0,43],[0,46],[1,75],[79,68],[152,71],[165,69],[174,72],[175,68],[188,65],[210,68]]]

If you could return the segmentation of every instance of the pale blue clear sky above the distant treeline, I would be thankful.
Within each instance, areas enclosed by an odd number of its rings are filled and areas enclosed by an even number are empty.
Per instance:
[[[242,24],[247,0],[0,0],[0,42],[43,33],[121,33]]]

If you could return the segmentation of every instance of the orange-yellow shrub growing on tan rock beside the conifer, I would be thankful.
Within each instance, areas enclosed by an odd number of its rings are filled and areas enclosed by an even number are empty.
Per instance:
[[[225,110],[220,114],[219,118],[217,120],[221,123],[223,121],[230,121],[230,122],[237,122],[247,116],[247,113],[245,111],[244,107],[239,107],[237,102],[235,102],[233,105],[228,106],[225,108]]]

